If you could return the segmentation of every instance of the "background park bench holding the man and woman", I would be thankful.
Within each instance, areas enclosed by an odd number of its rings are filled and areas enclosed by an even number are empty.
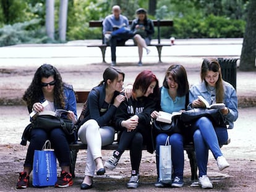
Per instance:
[[[92,20],[89,22],[89,27],[101,27],[101,31],[103,29],[103,25],[102,25],[103,21],[102,20]],[[132,20],[129,20],[129,25],[132,23]],[[161,51],[163,46],[171,46],[171,43],[169,44],[162,44],[161,43],[161,39],[160,39],[160,27],[173,27],[173,20],[153,20],[154,23],[154,27],[157,28],[157,39],[158,42],[155,44],[150,44],[148,46],[155,46],[157,51],[158,51],[158,58],[159,58],[159,62],[161,62]],[[98,47],[101,50],[101,54],[102,54],[102,59],[103,62],[106,63],[105,61],[105,53],[106,53],[106,48],[108,47],[107,44],[105,44],[104,42],[104,35],[102,34],[102,43],[101,44],[90,44],[87,47]],[[125,45],[117,45],[117,46],[136,46],[134,45],[134,43],[132,44],[125,44]]]

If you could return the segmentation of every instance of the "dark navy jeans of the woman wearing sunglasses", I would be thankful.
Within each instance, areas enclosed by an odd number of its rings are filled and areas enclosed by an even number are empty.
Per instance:
[[[35,150],[41,150],[46,140],[51,141],[51,146],[59,161],[60,166],[70,165],[70,149],[66,134],[61,128],[54,128],[49,133],[41,128],[32,128],[30,132],[30,144],[27,150],[24,167],[33,168]]]

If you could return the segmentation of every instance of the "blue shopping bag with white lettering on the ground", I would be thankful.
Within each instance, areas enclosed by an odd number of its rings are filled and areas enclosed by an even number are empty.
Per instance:
[[[56,182],[57,164],[53,149],[45,149],[44,146],[42,151],[35,150],[32,185],[36,187],[53,186]]]

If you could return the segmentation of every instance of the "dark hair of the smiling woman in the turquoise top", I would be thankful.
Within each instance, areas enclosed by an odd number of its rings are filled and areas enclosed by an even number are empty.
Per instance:
[[[163,86],[166,89],[169,89],[169,85],[166,81],[166,78],[168,78],[169,75],[173,77],[173,80],[178,85],[177,96],[181,97],[189,92],[189,81],[187,80],[187,72],[183,65],[173,64],[166,70],[163,80]]]

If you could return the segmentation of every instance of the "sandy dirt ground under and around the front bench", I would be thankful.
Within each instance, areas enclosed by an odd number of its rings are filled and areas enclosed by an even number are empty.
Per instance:
[[[78,111],[80,112],[81,107]],[[28,114],[25,106],[0,106],[0,164],[2,165],[1,190],[14,190],[18,173],[22,170],[27,146],[20,146],[20,136],[23,128],[28,123]],[[256,107],[239,109],[239,119],[235,123],[235,128],[229,130],[231,143],[223,146],[224,156],[228,159],[231,167],[223,172],[218,171],[216,161],[210,153],[208,162],[208,176],[213,181],[214,189],[211,191],[256,191],[254,181],[256,180],[256,145],[254,138],[254,120]],[[13,117],[17,117],[19,123],[14,123]],[[103,151],[105,161],[111,155],[111,151]],[[61,191],[77,191],[83,180],[85,169],[85,151],[78,153],[75,169],[76,178],[74,186],[61,189]],[[176,191],[198,191],[200,188],[191,187],[189,159],[185,154],[184,181],[182,189]],[[153,186],[156,180],[155,156],[143,151],[142,164],[140,166],[140,186],[139,191],[165,191]],[[108,171],[104,177],[95,177],[95,188],[92,191],[126,191],[126,182],[130,176],[129,152],[125,152],[121,161],[114,171]],[[32,181],[30,181],[32,182]],[[28,188],[27,191],[59,191],[53,187],[49,188]]]

